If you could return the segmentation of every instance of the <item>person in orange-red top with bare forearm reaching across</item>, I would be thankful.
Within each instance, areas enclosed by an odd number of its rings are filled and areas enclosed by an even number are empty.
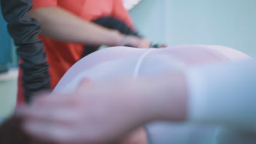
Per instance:
[[[133,47],[149,47],[149,41],[121,34],[119,31],[96,25],[90,21],[111,16],[124,22],[133,30],[129,13],[121,0],[32,0],[30,14],[42,26],[47,62],[50,66],[50,87],[54,88],[83,54],[84,44]],[[100,59],[100,58],[99,58]],[[19,73],[18,103],[32,95],[24,95],[22,70]],[[42,91],[44,89],[38,89]]]

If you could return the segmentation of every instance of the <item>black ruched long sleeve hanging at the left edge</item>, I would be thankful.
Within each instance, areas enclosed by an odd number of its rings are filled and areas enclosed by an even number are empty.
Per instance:
[[[20,65],[27,102],[39,91],[50,89],[49,66],[42,40],[37,38],[41,32],[39,23],[30,17],[31,0],[1,0],[4,19],[8,22],[8,31],[18,46],[17,54],[22,59]]]

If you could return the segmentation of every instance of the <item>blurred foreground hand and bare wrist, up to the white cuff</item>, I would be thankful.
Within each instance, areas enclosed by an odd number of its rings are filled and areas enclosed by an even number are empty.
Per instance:
[[[183,121],[187,116],[183,73],[92,83],[72,94],[46,94],[18,111],[24,129],[38,139],[62,144],[114,143],[150,121]]]

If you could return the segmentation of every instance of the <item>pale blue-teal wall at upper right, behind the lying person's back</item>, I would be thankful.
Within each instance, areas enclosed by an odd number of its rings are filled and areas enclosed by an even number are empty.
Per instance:
[[[143,0],[131,10],[155,42],[224,45],[256,56],[255,0]]]

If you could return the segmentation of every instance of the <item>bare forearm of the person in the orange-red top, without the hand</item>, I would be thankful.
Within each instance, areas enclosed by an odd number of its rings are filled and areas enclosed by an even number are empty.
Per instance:
[[[32,17],[42,26],[42,34],[52,39],[73,43],[116,46],[123,38],[113,31],[94,23],[84,21],[58,7],[39,8],[30,11]]]

